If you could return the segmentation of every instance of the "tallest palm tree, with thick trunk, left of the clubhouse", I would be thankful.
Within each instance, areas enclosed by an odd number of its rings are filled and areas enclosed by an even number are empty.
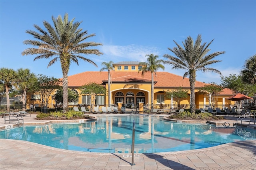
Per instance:
[[[81,22],[74,22],[74,18],[68,21],[68,14],[64,15],[63,20],[61,16],[58,16],[58,18],[52,16],[52,21],[54,26],[51,26],[46,21],[43,22],[44,27],[47,29],[46,31],[37,25],[34,25],[34,27],[39,33],[32,30],[26,31],[26,33],[34,36],[36,40],[25,40],[24,44],[37,46],[38,48],[25,49],[22,55],[38,55],[34,58],[34,61],[54,57],[49,62],[48,67],[60,60],[63,75],[63,112],[66,113],[68,111],[68,70],[70,63],[74,62],[78,65],[78,59],[82,59],[97,67],[96,63],[81,54],[101,55],[103,53],[98,49],[89,49],[89,47],[102,44],[84,42],[84,40],[95,36],[95,34],[87,35],[87,31],[78,29]]]

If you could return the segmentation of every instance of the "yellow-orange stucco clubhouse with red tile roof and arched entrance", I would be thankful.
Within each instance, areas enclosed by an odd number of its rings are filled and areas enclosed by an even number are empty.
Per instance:
[[[110,92],[107,91],[106,95],[96,95],[94,105],[109,106],[122,103],[126,107],[134,107],[138,103],[150,106],[150,93],[151,93],[151,73],[147,72],[142,76],[138,70],[138,61],[122,61],[115,63],[114,71],[111,71]],[[88,83],[98,83],[108,89],[108,71],[86,71],[75,75],[68,76],[68,88],[77,91],[80,94],[80,87]],[[199,88],[203,87],[205,83],[196,81],[195,84],[195,100],[196,108],[207,107],[209,105],[208,96],[199,92]],[[165,97],[166,91],[182,88],[187,91],[188,97],[180,99],[177,105],[173,105],[173,99]],[[226,98],[232,95],[230,89],[224,89],[216,100],[216,106],[224,107],[232,104],[232,101]],[[108,103],[110,97],[111,103]],[[28,96],[28,100],[30,97]],[[49,106],[55,104],[55,101],[50,99]],[[28,101],[28,103],[36,103],[35,101]],[[189,108],[190,104],[190,83],[188,78],[184,78],[172,73],[157,71],[154,74],[154,107],[173,108]],[[89,95],[80,94],[79,100],[73,105],[90,105]],[[221,108],[222,109],[222,108]]]

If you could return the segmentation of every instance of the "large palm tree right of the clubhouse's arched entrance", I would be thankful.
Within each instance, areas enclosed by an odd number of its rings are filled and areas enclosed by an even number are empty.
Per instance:
[[[183,49],[178,43],[176,43],[177,47],[173,49],[168,48],[170,51],[176,55],[176,57],[164,54],[168,60],[164,61],[166,64],[173,65],[172,69],[185,69],[186,72],[183,75],[183,79],[189,75],[190,82],[190,110],[192,113],[195,113],[196,105],[195,105],[195,83],[196,83],[196,71],[212,72],[218,73],[221,75],[221,72],[212,67],[207,67],[213,63],[218,63],[221,60],[213,59],[214,57],[225,53],[225,51],[218,51],[211,54],[207,54],[210,49],[208,49],[209,45],[213,42],[213,40],[206,45],[203,43],[201,45],[202,38],[201,35],[198,35],[196,38],[196,42],[194,44],[193,39],[188,36],[185,42],[182,42],[184,45]]]

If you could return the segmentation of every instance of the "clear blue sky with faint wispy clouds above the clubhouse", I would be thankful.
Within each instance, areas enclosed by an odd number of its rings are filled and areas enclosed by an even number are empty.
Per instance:
[[[88,41],[103,43],[97,47],[104,55],[86,55],[95,67],[82,60],[79,66],[70,65],[68,75],[84,71],[99,71],[103,61],[146,61],[146,54],[159,59],[168,50],[191,36],[202,35],[209,43],[210,53],[226,51],[216,59],[222,60],[212,67],[222,75],[239,74],[245,60],[256,54],[256,1],[76,1],[76,0],[0,0],[0,67],[28,68],[37,74],[62,77],[60,63],[47,68],[50,60],[34,60],[33,55],[22,56],[24,40],[33,39],[26,30],[35,30],[33,24],[44,28],[44,20],[52,24],[52,16],[82,21],[80,28],[96,34]],[[170,73],[183,76],[185,70]],[[162,70],[158,70],[162,71]],[[197,72],[197,81],[220,83],[220,75]]]

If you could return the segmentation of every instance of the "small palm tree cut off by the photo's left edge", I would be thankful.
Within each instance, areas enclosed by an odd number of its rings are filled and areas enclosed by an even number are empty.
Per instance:
[[[6,92],[6,109],[10,112],[10,99],[9,99],[9,91],[12,88],[12,85],[15,80],[16,71],[14,69],[8,69],[2,67],[0,69],[0,80],[4,84],[5,92]]]

